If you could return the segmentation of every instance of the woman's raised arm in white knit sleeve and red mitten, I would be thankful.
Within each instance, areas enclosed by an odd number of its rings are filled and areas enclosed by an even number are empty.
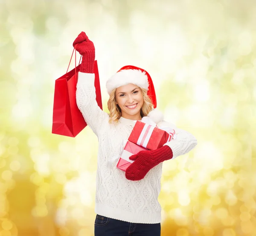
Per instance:
[[[102,125],[108,125],[109,116],[99,108],[96,102],[95,75],[93,74],[95,48],[93,42],[88,39],[84,32],[79,34],[73,46],[82,55],[82,63],[76,85],[76,103],[87,125],[98,135]]]

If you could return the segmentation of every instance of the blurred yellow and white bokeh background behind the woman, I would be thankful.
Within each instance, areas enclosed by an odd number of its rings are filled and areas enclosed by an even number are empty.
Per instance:
[[[0,236],[93,236],[97,137],[51,134],[81,31],[105,111],[108,77],[136,65],[198,139],[163,165],[161,235],[255,236],[255,0],[0,0]]]

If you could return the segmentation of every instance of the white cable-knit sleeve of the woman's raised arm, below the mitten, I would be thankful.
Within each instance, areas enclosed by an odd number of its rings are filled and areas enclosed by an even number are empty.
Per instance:
[[[98,135],[100,127],[108,125],[109,115],[96,102],[94,78],[94,74],[78,73],[76,103],[87,125]]]

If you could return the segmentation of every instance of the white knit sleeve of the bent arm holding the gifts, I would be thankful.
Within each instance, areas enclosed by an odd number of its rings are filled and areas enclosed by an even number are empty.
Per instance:
[[[197,145],[197,139],[188,131],[177,128],[172,123],[169,124],[169,127],[175,130],[177,136],[176,139],[172,139],[164,145],[168,145],[172,149],[172,159],[175,159],[177,156],[184,155],[195,148]]]

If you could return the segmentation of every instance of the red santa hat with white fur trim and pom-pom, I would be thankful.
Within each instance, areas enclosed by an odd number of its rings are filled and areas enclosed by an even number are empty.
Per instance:
[[[137,66],[125,65],[117,71],[116,74],[110,77],[106,84],[108,94],[111,94],[111,91],[114,88],[118,88],[122,85],[128,85],[129,83],[135,84],[140,88],[145,88],[148,91],[148,97],[151,99],[154,108],[157,107],[157,97],[152,79],[147,71]],[[155,123],[163,120],[163,114],[157,109],[150,111],[148,113],[148,117],[150,117]]]

